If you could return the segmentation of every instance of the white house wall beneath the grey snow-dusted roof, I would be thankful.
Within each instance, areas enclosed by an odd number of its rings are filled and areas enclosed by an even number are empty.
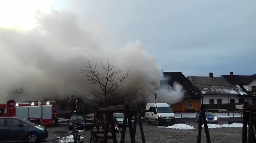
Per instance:
[[[238,103],[239,98],[244,98],[244,97],[238,97],[236,95],[230,95],[229,96],[229,103],[230,99],[235,99],[235,103]],[[222,104],[228,103],[228,99],[226,95],[205,95],[202,100],[203,104],[210,104],[210,99],[214,99],[214,104],[217,104],[217,99],[222,99]],[[245,99],[246,101],[247,99]]]

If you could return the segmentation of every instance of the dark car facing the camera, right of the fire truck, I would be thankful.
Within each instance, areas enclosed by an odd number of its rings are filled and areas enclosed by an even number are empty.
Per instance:
[[[85,120],[82,115],[72,115],[69,118],[69,130],[72,130],[73,127],[73,121],[77,124],[78,129],[85,129]]]

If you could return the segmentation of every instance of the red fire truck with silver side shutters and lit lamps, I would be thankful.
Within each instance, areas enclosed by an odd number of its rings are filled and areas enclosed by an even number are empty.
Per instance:
[[[0,104],[0,117],[17,117],[35,124],[53,124],[54,102],[16,102],[13,109]]]

